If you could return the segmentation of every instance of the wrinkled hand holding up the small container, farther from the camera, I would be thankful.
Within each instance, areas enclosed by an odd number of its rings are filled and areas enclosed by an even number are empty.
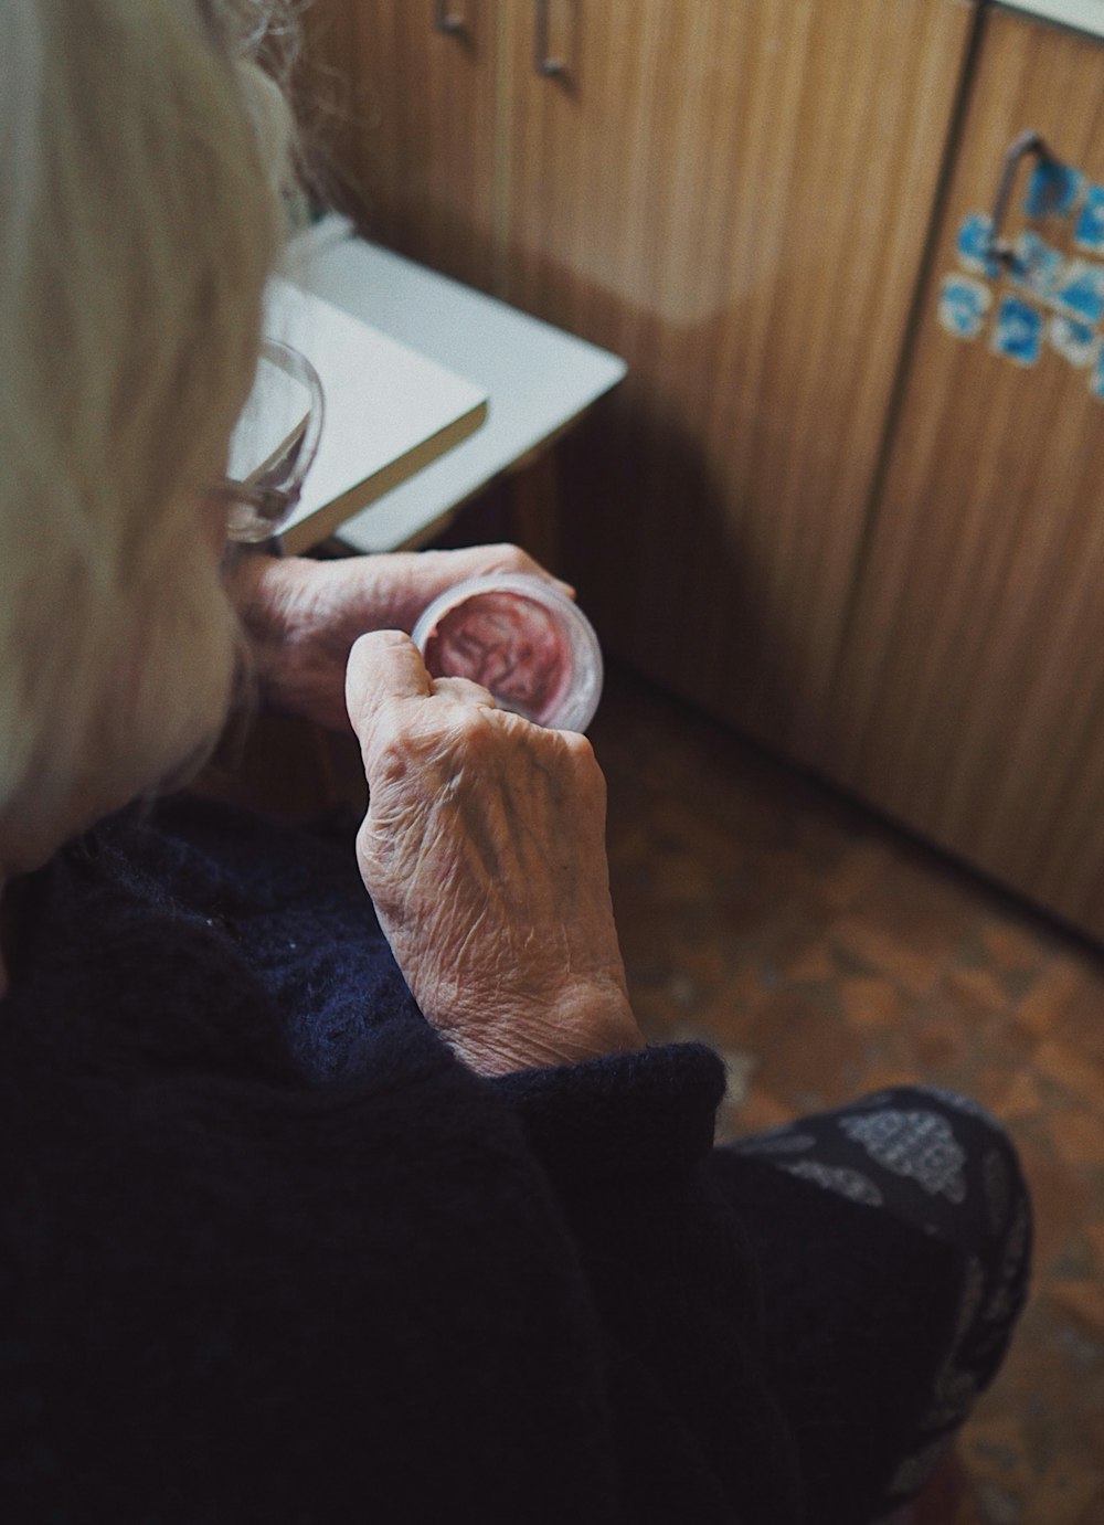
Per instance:
[[[345,730],[345,668],[357,636],[366,630],[410,631],[439,593],[488,572],[528,572],[555,581],[525,551],[496,544],[340,561],[250,554],[230,563],[227,587],[264,698],[287,714]]]

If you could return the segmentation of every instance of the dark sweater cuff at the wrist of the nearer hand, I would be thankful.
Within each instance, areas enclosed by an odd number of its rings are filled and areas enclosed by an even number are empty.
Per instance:
[[[712,1148],[724,1064],[701,1043],[662,1043],[488,1084],[514,1107],[557,1185],[672,1183]]]

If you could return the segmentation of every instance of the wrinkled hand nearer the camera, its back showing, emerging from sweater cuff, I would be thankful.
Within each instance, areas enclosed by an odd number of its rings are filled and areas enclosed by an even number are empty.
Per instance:
[[[348,706],[360,872],[425,1017],[483,1075],[642,1048],[590,743],[432,679],[398,631],[355,644]]]

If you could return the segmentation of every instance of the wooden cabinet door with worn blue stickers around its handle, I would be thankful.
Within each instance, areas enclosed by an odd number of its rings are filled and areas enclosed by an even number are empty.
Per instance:
[[[971,278],[958,241],[991,206],[1002,156],[1025,128],[1084,172],[1083,194],[1104,186],[1102,87],[1104,44],[1009,12],[987,15],[828,752],[834,776],[868,801],[1096,936],[1104,396],[1093,389],[1104,393],[1104,372],[1086,361],[1099,340],[1083,332],[1078,346],[1067,325],[1052,329],[1061,313],[1054,297]],[[1032,220],[1029,174],[1025,165],[1017,177],[1008,235],[1026,227],[1063,259],[1083,259],[1080,300],[1092,305],[1095,287],[1104,305],[1104,191],[1089,194],[1087,223],[1077,204]],[[1086,250],[1077,235],[1092,233],[1093,204],[1101,239]],[[1075,274],[1058,265],[1054,291],[1069,294]],[[947,278],[958,311],[947,308]],[[971,281],[982,294],[970,296]],[[1019,332],[999,326],[1005,299]],[[944,320],[980,326],[977,336],[944,331],[941,302]]]

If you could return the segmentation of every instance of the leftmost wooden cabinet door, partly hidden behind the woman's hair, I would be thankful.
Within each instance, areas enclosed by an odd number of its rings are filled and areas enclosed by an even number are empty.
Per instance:
[[[319,137],[361,232],[482,290],[499,270],[497,11],[496,0],[316,0],[306,12],[308,84],[326,102]]]

